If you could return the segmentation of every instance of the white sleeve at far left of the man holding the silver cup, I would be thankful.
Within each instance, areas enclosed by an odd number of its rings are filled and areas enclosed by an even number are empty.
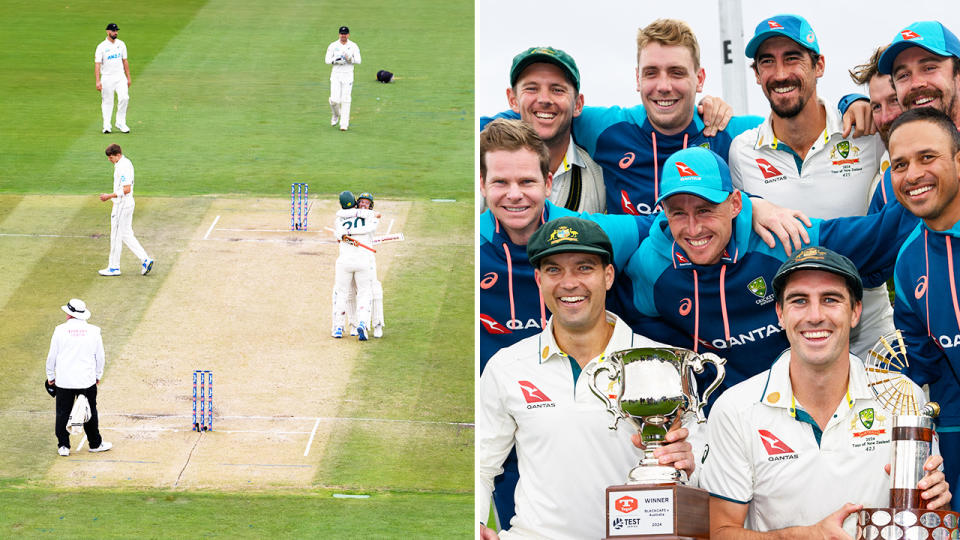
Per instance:
[[[490,513],[493,479],[503,472],[503,461],[513,448],[517,422],[510,415],[497,380],[500,352],[493,355],[477,386],[477,448],[474,511],[476,519],[486,523]]]

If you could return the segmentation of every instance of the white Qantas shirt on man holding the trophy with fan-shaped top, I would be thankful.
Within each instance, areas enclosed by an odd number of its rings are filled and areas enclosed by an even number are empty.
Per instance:
[[[913,389],[921,395],[918,386]],[[789,349],[769,370],[724,392],[707,424],[700,487],[749,504],[747,529],[812,525],[847,502],[889,506],[883,467],[890,462],[893,417],[867,386],[856,356],[850,355],[845,399],[819,440],[816,422],[793,397]],[[855,535],[856,514],[844,529]]]

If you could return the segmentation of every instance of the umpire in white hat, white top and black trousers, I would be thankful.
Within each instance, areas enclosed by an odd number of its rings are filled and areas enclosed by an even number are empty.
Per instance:
[[[67,322],[53,331],[47,354],[47,385],[54,387],[57,400],[57,453],[70,455],[67,420],[74,400],[81,394],[90,402],[90,420],[83,424],[90,451],[106,452],[113,445],[100,436],[97,417],[97,384],[103,377],[104,364],[100,327],[87,323],[90,311],[83,300],[73,298],[60,309],[67,314]]]

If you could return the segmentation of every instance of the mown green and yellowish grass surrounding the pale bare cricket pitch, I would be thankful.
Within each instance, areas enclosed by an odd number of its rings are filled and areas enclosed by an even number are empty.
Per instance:
[[[387,315],[392,339],[362,353],[351,389],[364,399],[342,413],[473,421],[472,2],[176,0],[121,9],[8,0],[0,19],[11,30],[0,34],[8,74],[0,79],[0,233],[108,234],[108,205],[94,195],[111,189],[110,142],[133,160],[134,225],[165,267],[179,253],[167,238],[196,229],[212,196],[285,197],[302,181],[314,196],[351,189],[412,200],[403,232],[437,247],[404,253],[381,276],[388,305],[397,306]],[[130,53],[130,135],[100,133],[92,60],[107,22],[120,26]],[[341,24],[363,56],[346,133],[329,125],[323,63]],[[395,82],[375,82],[379,69]],[[89,199],[78,207],[77,195]],[[106,258],[104,242],[96,246],[0,237],[0,429],[8,434],[0,442],[0,537],[472,534],[472,428],[345,423],[328,442],[315,488],[303,492],[51,487],[52,426],[4,412],[52,410],[40,377],[62,320],[56,306],[65,295],[115,294],[100,314],[127,324],[105,332],[109,353],[123,347],[125,329],[162,284],[107,284],[88,271]]]

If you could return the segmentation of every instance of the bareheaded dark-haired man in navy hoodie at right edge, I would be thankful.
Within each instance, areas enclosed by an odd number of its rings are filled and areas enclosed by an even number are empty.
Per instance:
[[[894,273],[894,321],[917,384],[930,384],[947,480],[960,481],[960,313],[953,243],[960,242],[960,135],[936,107],[903,113],[890,130],[893,191],[922,223],[904,243]],[[960,244],[958,244],[960,246]]]

